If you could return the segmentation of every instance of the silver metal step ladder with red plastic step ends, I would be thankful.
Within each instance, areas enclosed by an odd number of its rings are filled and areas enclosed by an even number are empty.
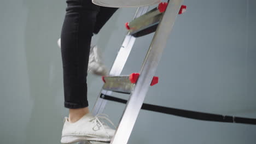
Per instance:
[[[166,47],[174,21],[177,15],[182,14],[186,9],[182,3],[183,0],[171,0],[168,3],[160,3],[157,8],[150,11],[148,11],[149,7],[138,8],[133,20],[125,24],[129,32],[110,69],[109,76],[102,77],[104,85],[92,109],[94,115],[102,113],[108,101],[105,96],[112,92],[130,94],[110,144],[125,144],[129,140],[149,87],[158,83],[158,77],[154,76],[155,71]],[[153,32],[155,35],[140,73],[120,76],[136,38]]]

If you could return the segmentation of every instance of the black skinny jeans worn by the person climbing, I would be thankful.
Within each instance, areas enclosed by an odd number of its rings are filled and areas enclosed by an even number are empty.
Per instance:
[[[117,8],[92,4],[91,0],[67,0],[61,31],[61,56],[65,107],[88,106],[87,69],[91,37],[97,34]]]

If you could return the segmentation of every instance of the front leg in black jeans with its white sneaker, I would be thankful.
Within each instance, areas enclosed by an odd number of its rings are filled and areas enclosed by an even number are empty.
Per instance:
[[[69,109],[69,118],[65,118],[63,124],[61,143],[83,140],[109,142],[115,130],[99,119],[106,117],[89,113],[87,100],[90,44],[100,7],[92,4],[91,0],[67,0],[67,3],[61,53],[65,107]]]

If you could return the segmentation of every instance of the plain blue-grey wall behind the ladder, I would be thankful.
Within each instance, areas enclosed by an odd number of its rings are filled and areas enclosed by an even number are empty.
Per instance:
[[[256,118],[256,1],[185,1],[146,103]],[[61,0],[0,4],[0,143],[60,143],[63,85]],[[120,9],[92,41],[110,68],[134,8]],[[138,72],[153,35],[139,38],[123,74]],[[88,77],[90,109],[101,89]],[[116,94],[117,95],[117,94]],[[123,95],[122,95],[123,96]],[[127,96],[126,96],[127,97]],[[124,105],[109,102],[118,123]],[[195,121],[141,111],[129,143],[255,143],[256,127]]]

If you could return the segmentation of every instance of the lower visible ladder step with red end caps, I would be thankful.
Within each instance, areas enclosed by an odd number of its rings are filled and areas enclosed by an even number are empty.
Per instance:
[[[139,73],[132,73],[123,76],[102,76],[104,82],[103,89],[113,92],[130,94],[135,83],[137,82]],[[156,85],[159,78],[154,76],[150,86]]]

